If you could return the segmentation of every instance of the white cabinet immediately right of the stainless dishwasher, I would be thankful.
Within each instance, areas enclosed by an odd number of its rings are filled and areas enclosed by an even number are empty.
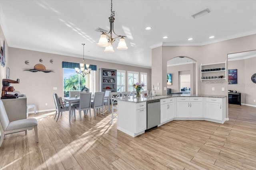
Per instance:
[[[160,123],[166,123],[174,119],[175,116],[175,99],[167,98],[160,100]]]

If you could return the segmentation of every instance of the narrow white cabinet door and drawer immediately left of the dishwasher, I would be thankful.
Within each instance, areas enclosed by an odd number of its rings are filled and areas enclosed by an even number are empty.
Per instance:
[[[146,102],[138,103],[136,107],[136,133],[145,131],[147,127]]]

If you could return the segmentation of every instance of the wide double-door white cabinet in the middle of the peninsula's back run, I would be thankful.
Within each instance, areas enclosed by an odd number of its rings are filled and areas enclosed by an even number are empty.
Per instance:
[[[203,104],[201,97],[178,97],[177,118],[203,118]]]

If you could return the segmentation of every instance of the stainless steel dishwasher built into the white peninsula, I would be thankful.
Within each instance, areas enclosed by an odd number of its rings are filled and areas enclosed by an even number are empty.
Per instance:
[[[147,129],[160,124],[160,100],[147,102]]]

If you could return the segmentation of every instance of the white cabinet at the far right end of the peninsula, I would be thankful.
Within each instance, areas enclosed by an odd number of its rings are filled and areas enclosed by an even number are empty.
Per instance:
[[[206,120],[224,123],[226,98],[206,98]]]

